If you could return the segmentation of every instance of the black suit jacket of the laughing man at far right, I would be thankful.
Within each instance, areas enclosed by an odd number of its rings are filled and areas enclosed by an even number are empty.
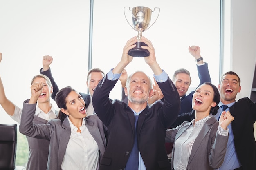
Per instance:
[[[256,170],[256,142],[253,127],[256,121],[256,102],[245,97],[239,99],[229,110],[234,117],[231,126],[238,159],[244,170]],[[179,115],[175,123],[191,121],[194,118],[195,112],[186,113]]]

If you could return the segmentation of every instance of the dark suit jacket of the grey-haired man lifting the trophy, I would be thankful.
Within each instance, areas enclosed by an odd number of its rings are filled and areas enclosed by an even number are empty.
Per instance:
[[[108,127],[108,145],[101,161],[100,170],[123,170],[134,141],[134,113],[127,105],[108,96],[116,82],[107,75],[94,90],[92,103],[98,117]],[[137,123],[138,147],[147,170],[170,170],[164,146],[166,129],[180,111],[180,98],[173,82],[158,83],[165,101],[147,106],[139,115]]]

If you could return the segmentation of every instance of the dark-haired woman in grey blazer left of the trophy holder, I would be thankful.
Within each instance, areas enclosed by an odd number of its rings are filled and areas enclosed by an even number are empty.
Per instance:
[[[71,87],[58,91],[59,119],[33,124],[36,101],[43,82],[31,85],[31,98],[24,102],[20,132],[50,141],[47,170],[98,170],[106,148],[103,123],[96,114],[86,117],[85,102]]]

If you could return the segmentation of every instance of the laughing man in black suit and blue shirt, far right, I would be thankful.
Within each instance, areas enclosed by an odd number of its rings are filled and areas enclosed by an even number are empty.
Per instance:
[[[234,121],[228,126],[229,141],[225,159],[218,170],[256,170],[256,142],[253,127],[256,121],[256,102],[252,102],[248,97],[236,102],[236,95],[241,91],[240,82],[239,76],[229,71],[222,75],[218,86],[220,108],[215,117],[218,119],[222,111],[229,111],[234,117]],[[226,105],[227,108],[222,110],[222,105]],[[194,114],[179,115],[175,126],[194,118]]]

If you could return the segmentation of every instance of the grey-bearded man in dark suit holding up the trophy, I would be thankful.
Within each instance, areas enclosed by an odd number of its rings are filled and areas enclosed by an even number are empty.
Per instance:
[[[148,107],[148,97],[153,93],[152,81],[142,71],[136,71],[127,79],[125,93],[128,104],[117,99],[112,103],[107,100],[121,72],[133,59],[128,51],[136,46],[136,42],[136,37],[127,41],[121,61],[103,77],[92,97],[98,117],[108,127],[108,145],[100,170],[170,169],[164,147],[165,134],[179,114],[180,97],[171,79],[156,62],[154,47],[145,37],[141,38],[141,42],[148,46],[142,48],[147,49],[150,55],[144,60],[164,94],[164,102],[157,101]],[[132,148],[137,149],[137,158],[133,160]]]

